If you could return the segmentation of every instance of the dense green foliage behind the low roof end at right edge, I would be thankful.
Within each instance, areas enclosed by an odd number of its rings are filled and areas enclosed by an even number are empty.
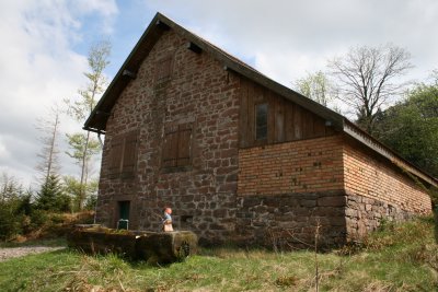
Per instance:
[[[374,135],[404,159],[438,177],[438,85],[417,84],[379,113]]]

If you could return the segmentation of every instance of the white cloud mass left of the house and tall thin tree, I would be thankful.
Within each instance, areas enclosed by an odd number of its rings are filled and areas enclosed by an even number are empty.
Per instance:
[[[0,172],[22,177],[26,185],[33,180],[42,147],[36,118],[85,82],[87,56],[72,49],[82,39],[81,20],[93,15],[110,30],[107,19],[116,13],[115,1],[103,0],[0,3],[0,38],[5,45],[0,55]],[[61,127],[81,128],[67,119]],[[76,171],[71,162],[65,165],[67,173]]]

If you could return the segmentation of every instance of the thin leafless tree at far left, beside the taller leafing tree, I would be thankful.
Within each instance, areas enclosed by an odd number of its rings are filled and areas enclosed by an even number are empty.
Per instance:
[[[38,164],[35,166],[38,171],[39,176],[37,177],[43,184],[48,179],[50,175],[59,173],[60,166],[58,161],[59,149],[58,149],[58,136],[59,136],[59,116],[61,110],[58,105],[54,105],[49,109],[49,114],[44,118],[37,119],[36,129],[42,132],[39,141],[43,148],[37,156],[39,159]]]

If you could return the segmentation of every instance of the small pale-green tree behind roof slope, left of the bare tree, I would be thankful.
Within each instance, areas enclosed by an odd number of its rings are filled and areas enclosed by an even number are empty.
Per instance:
[[[332,84],[322,71],[308,73],[306,78],[297,80],[295,86],[299,93],[323,106],[327,106],[328,102],[333,100]]]

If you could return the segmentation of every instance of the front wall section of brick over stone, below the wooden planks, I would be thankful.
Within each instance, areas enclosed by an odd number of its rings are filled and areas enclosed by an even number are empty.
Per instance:
[[[239,150],[237,242],[309,248],[345,241],[342,137]]]

